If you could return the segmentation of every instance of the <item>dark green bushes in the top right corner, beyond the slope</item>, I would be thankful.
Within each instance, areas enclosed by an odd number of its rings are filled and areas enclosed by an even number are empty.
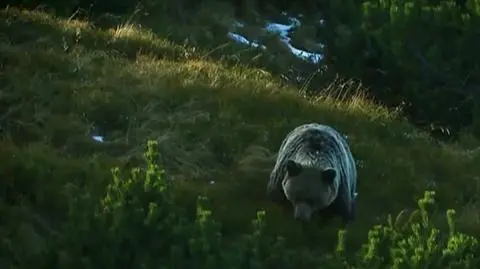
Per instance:
[[[478,1],[328,1],[332,72],[358,77],[416,124],[456,133],[479,102]]]

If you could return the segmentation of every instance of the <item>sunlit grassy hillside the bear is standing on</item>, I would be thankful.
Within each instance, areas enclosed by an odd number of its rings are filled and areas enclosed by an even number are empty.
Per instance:
[[[27,224],[40,235],[54,230],[68,187],[101,192],[112,165],[138,164],[146,140],[159,139],[168,174],[188,180],[177,184],[179,202],[207,193],[226,234],[248,229],[255,211],[267,208],[272,233],[330,248],[335,223],[300,227],[289,208],[265,198],[282,138],[312,121],[347,134],[359,160],[349,242],[363,242],[389,212],[414,207],[427,188],[437,191],[440,209],[457,210],[460,229],[480,234],[480,155],[436,146],[371,102],[306,99],[265,71],[205,59],[132,26],[100,30],[44,13],[0,14],[2,236],[24,240]],[[95,126],[106,143],[89,138]]]

